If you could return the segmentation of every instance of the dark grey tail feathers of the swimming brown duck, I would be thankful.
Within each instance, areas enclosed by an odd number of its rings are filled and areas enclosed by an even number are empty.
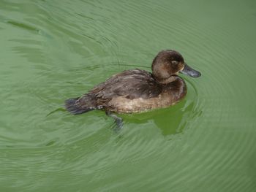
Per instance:
[[[67,99],[65,101],[65,107],[67,109],[68,112],[74,114],[74,115],[78,115],[78,114],[82,114],[84,112],[89,112],[91,110],[95,110],[93,107],[86,107],[86,106],[80,106],[77,104],[78,98],[72,98],[72,99]]]

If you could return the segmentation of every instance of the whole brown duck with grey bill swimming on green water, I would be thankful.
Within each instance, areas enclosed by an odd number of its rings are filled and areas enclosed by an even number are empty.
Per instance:
[[[114,74],[83,96],[67,99],[65,108],[74,115],[104,110],[120,127],[123,121],[116,114],[170,107],[184,99],[187,85],[178,76],[179,73],[190,77],[201,76],[176,50],[161,50],[157,53],[151,70],[129,69]]]

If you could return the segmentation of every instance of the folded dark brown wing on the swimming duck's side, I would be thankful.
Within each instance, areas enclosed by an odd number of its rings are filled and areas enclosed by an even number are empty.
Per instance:
[[[110,77],[94,87],[90,93],[94,93],[99,100],[109,101],[118,96],[124,96],[127,99],[149,99],[158,96],[161,91],[162,87],[150,72],[132,69]]]

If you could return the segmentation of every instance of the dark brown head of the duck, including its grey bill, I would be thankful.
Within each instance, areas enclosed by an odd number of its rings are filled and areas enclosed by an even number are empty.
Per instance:
[[[154,58],[152,63],[154,78],[160,83],[173,81],[178,72],[187,74],[190,77],[200,77],[200,72],[192,69],[184,62],[181,53],[175,50],[162,50]]]

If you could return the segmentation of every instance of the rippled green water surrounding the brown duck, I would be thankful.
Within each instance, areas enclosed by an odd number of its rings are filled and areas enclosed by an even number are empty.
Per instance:
[[[256,3],[0,1],[0,191],[255,191]],[[64,100],[175,49],[176,106],[69,115]]]

